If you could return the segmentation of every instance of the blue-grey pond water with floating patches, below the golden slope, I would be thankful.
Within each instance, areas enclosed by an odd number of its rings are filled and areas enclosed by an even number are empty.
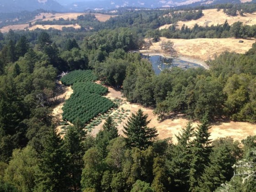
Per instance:
[[[198,68],[202,67],[199,64],[183,61],[181,59],[171,59],[171,58],[165,58],[160,55],[154,55],[154,56],[142,56],[144,59],[148,59],[153,66],[153,69],[155,71],[155,74],[158,75],[163,69],[171,69],[172,67],[180,67],[182,69],[189,69],[189,68]]]

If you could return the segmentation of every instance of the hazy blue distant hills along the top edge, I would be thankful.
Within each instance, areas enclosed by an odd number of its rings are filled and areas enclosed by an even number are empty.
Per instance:
[[[242,2],[251,0],[241,0]],[[1,0],[0,13],[34,11],[84,11],[88,9],[115,9],[118,7],[174,7],[211,3],[239,3],[240,0]]]

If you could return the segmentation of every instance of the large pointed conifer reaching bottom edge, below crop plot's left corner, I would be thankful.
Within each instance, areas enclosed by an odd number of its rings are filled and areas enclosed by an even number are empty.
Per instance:
[[[54,128],[48,128],[42,141],[43,150],[39,154],[37,192],[65,192],[69,182],[67,158],[63,141]]]

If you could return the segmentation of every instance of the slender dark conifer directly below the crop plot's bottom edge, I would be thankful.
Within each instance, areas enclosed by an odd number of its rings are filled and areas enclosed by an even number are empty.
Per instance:
[[[69,127],[64,137],[64,149],[68,159],[70,188],[73,191],[77,191],[80,189],[81,174],[84,164],[83,155],[85,150],[76,127]]]

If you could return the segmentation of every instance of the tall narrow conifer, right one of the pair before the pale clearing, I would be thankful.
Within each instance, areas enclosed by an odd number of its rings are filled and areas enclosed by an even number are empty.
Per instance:
[[[190,191],[195,191],[195,187],[198,186],[198,181],[209,162],[211,152],[211,147],[209,146],[211,143],[209,139],[210,133],[208,132],[209,128],[208,117],[205,115],[202,119],[202,124],[197,128],[195,139],[193,140],[189,178]]]

